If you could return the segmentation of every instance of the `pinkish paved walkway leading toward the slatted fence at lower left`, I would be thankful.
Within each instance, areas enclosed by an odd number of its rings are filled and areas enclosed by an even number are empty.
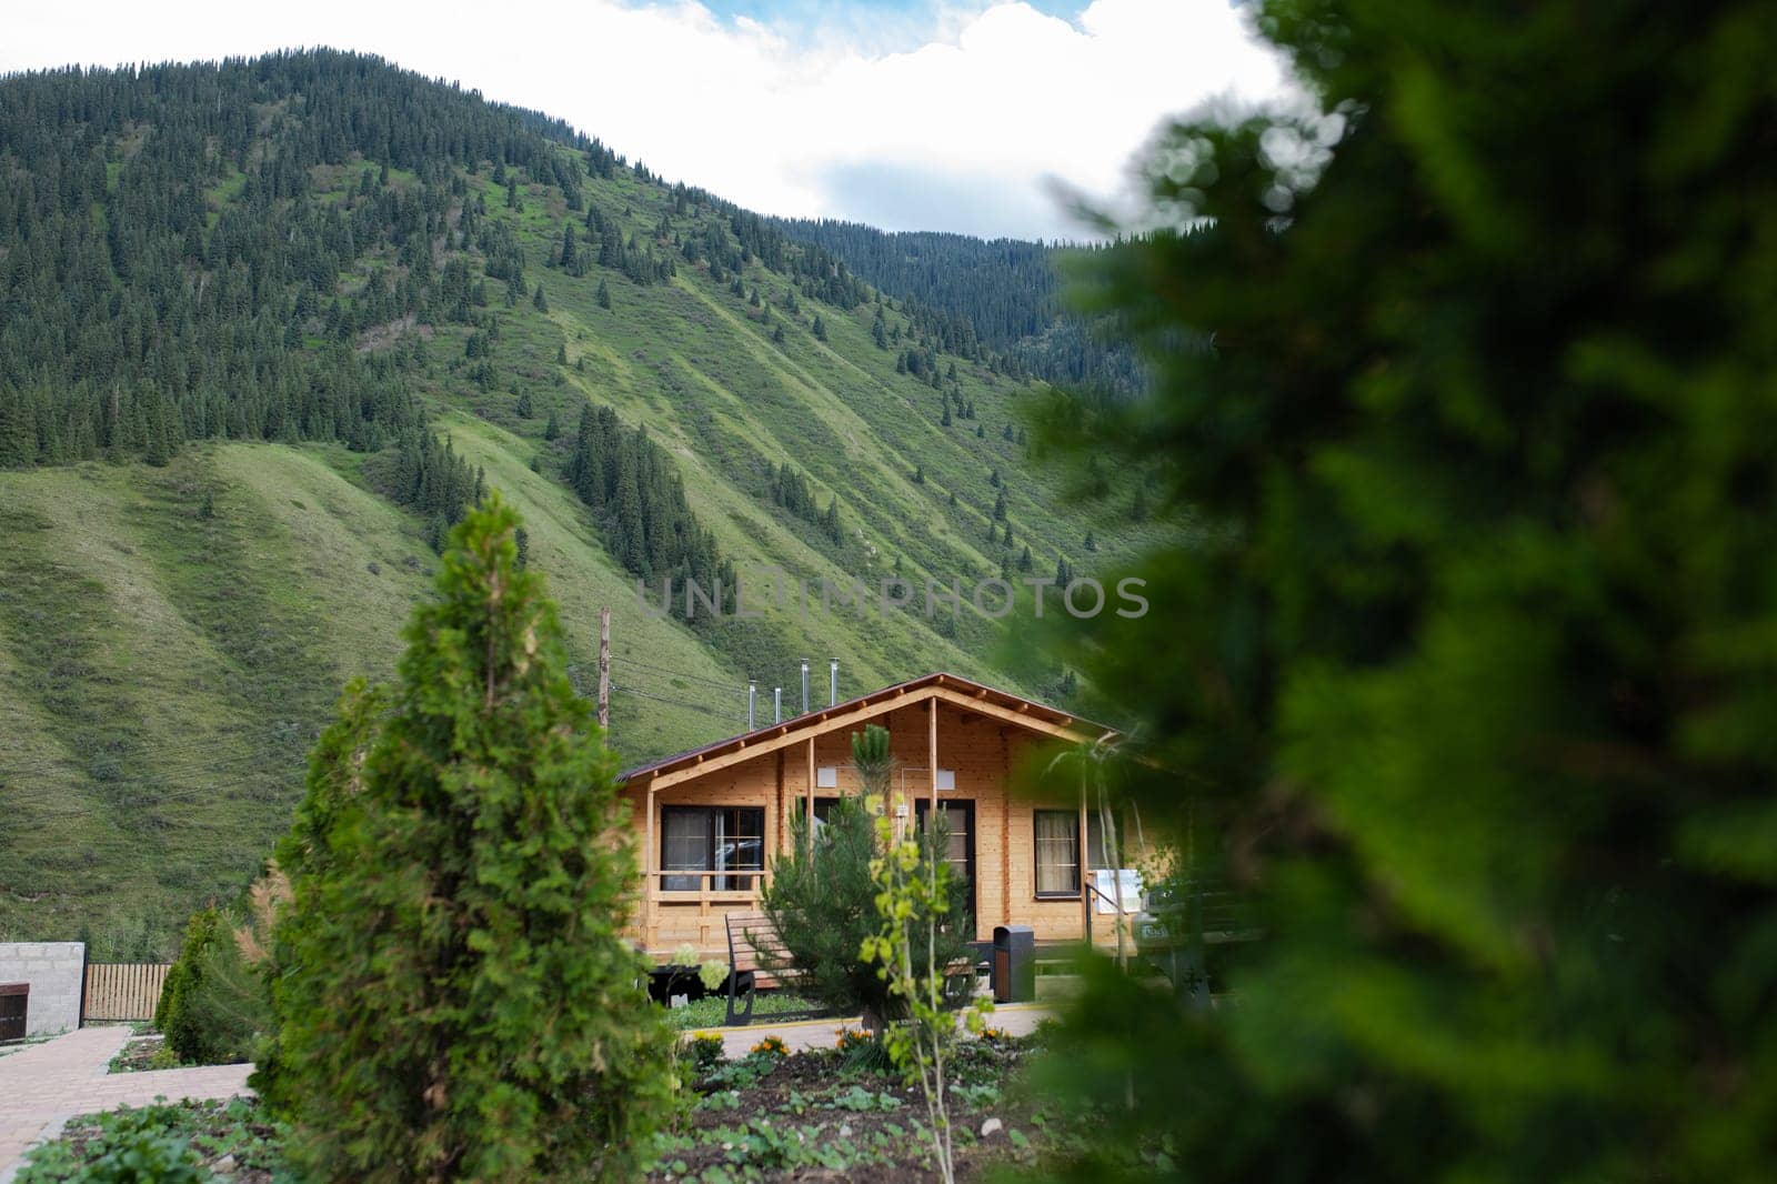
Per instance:
[[[75,1115],[144,1106],[156,1097],[249,1093],[252,1065],[107,1074],[105,1067],[128,1038],[128,1024],[82,1028],[0,1056],[0,1184],[12,1179],[27,1147],[60,1134],[62,1124]]]

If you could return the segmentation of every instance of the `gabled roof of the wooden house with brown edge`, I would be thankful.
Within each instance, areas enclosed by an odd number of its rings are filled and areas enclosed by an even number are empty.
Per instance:
[[[1116,734],[1114,729],[1093,724],[1091,720],[1082,720],[1047,704],[1040,704],[1034,699],[1013,695],[1011,692],[1002,692],[956,674],[938,672],[906,683],[896,683],[894,686],[885,686],[878,692],[848,699],[846,702],[833,704],[832,708],[817,708],[807,715],[798,715],[793,720],[755,727],[750,732],[730,736],[729,740],[718,740],[716,743],[704,745],[702,748],[691,748],[670,757],[661,757],[659,761],[650,761],[649,764],[638,764],[636,768],[622,773],[618,780],[638,782],[652,788],[677,784],[693,775],[750,761],[757,756],[777,752],[778,748],[809,740],[810,736],[851,727],[878,715],[908,708],[917,702],[926,702],[928,699],[949,702],[956,708],[976,711],[1004,724],[1056,736],[1059,740],[1095,741]]]

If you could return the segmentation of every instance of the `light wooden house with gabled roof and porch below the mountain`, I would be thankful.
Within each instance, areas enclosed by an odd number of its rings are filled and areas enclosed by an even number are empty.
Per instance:
[[[631,937],[649,956],[666,962],[689,944],[700,956],[727,958],[723,917],[759,910],[773,859],[791,846],[793,816],[819,820],[830,802],[860,791],[851,734],[865,724],[892,738],[888,809],[915,823],[944,811],[952,868],[972,889],[977,940],[992,940],[999,924],[1029,924],[1038,940],[1086,935],[1088,910],[1105,907],[1091,876],[1105,864],[1096,809],[1088,811],[1084,793],[1050,804],[1015,798],[1008,782],[1032,747],[1114,741],[1114,732],[954,674],[928,674],[624,773],[645,868]],[[1100,928],[1093,937],[1102,940],[1112,926]]]

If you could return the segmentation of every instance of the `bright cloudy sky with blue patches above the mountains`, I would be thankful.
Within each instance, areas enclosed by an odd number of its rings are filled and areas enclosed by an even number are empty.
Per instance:
[[[1228,0],[139,0],[7,16],[0,71],[327,44],[457,80],[761,213],[1077,238],[1171,116],[1287,91]]]

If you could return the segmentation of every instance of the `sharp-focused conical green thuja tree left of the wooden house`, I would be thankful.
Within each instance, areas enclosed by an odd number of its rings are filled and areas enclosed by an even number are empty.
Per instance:
[[[268,1092],[316,1177],[626,1175],[670,1100],[615,764],[517,528],[492,496],[451,533],[387,715],[345,699],[281,852]]]

